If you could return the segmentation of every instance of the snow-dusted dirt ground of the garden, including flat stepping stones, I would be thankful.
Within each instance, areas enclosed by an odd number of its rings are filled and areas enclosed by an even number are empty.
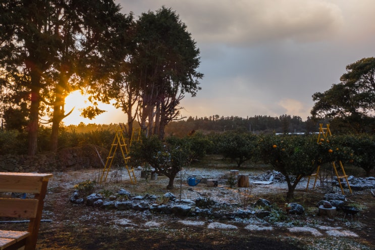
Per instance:
[[[101,209],[75,205],[69,198],[74,185],[86,180],[96,180],[101,169],[53,173],[48,184],[37,249],[375,249],[375,197],[369,190],[345,190],[347,203],[360,209],[353,218],[338,211],[334,218],[317,216],[316,204],[324,197],[319,188],[305,191],[303,180],[295,191],[295,203],[305,208],[303,215],[282,212],[265,219],[217,220],[214,218],[176,217],[133,210]],[[132,184],[127,171],[121,181],[108,178],[97,190],[124,188],[132,194],[163,195],[171,191],[182,199],[206,196],[218,202],[243,203],[241,189],[226,186],[229,169],[191,168],[175,180],[175,189],[167,190],[168,178],[157,180],[140,178]],[[241,170],[255,177],[260,170]],[[218,187],[203,183],[187,185],[187,176],[216,178]],[[284,182],[254,185],[247,201],[253,203],[265,198],[280,208],[285,204],[287,185]],[[51,221],[49,221],[51,220]],[[19,230],[24,224],[0,224],[0,229]]]

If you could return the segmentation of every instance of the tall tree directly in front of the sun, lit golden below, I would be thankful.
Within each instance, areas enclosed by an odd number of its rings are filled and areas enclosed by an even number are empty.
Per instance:
[[[93,118],[104,111],[96,100],[108,103],[111,96],[111,74],[127,54],[127,30],[132,16],[120,13],[112,0],[60,1],[59,26],[61,47],[52,76],[55,84],[48,89],[52,113],[51,149],[57,150],[58,131],[65,114],[66,96],[85,90],[93,106],[83,116]]]

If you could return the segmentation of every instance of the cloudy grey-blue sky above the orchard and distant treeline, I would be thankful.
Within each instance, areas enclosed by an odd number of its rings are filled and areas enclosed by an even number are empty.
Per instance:
[[[186,24],[200,49],[197,71],[204,74],[202,89],[181,102],[186,117],[287,114],[306,120],[313,93],[339,83],[347,65],[375,56],[373,0],[115,3],[136,18],[165,6]],[[108,112],[89,123],[126,123],[121,111],[106,108]]]

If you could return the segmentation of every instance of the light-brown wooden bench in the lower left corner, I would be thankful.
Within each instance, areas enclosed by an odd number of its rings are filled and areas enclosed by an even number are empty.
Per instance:
[[[0,230],[0,250],[36,247],[48,179],[52,174],[0,172],[0,192],[30,193],[34,198],[0,198],[0,217],[29,220],[27,231]]]

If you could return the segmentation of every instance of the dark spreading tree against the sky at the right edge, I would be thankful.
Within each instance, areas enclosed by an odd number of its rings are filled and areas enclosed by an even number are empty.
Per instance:
[[[375,111],[375,58],[363,58],[346,67],[341,82],[325,92],[312,95],[314,119],[330,118],[345,122],[356,132],[373,123]]]

